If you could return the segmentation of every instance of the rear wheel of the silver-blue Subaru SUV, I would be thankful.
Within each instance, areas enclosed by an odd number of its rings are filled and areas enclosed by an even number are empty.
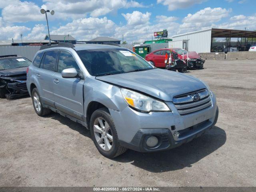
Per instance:
[[[32,90],[31,97],[32,97],[34,110],[35,110],[36,114],[38,114],[38,116],[46,116],[46,115],[50,114],[51,110],[43,107],[43,104],[41,102],[40,95],[38,93],[37,88],[34,88]]]

